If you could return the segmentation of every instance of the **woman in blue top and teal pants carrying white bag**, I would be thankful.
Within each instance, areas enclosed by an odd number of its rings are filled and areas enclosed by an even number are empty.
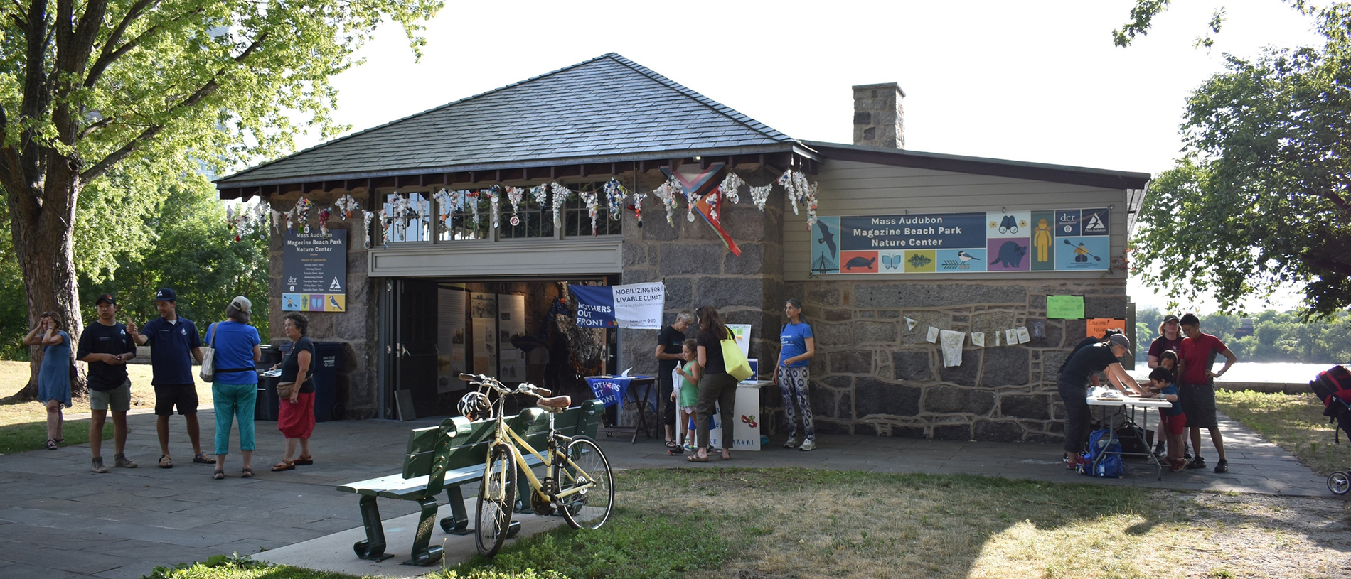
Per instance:
[[[207,346],[215,348],[215,381],[211,398],[216,406],[216,471],[211,478],[226,478],[226,455],[230,453],[230,421],[239,417],[239,451],[245,458],[242,478],[253,476],[254,405],[258,401],[258,373],[254,363],[262,359],[258,328],[249,325],[253,302],[243,296],[230,300],[230,320],[207,327]]]

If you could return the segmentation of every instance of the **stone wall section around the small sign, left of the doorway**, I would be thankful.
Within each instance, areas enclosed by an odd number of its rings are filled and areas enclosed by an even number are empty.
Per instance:
[[[307,194],[315,206],[332,206],[338,197],[346,192],[322,194],[312,192]],[[365,200],[365,192],[353,193],[353,197]],[[297,193],[272,197],[272,208],[288,211],[296,206],[300,198]],[[319,227],[319,217],[311,213],[312,229]],[[378,416],[377,405],[377,350],[380,328],[376,325],[378,316],[378,297],[376,286],[366,275],[366,248],[362,243],[362,220],[358,213],[351,220],[343,221],[336,215],[328,221],[330,229],[347,229],[347,310],[346,312],[301,312],[309,319],[309,339],[315,341],[339,341],[343,347],[343,367],[338,371],[338,402],[346,409],[346,418],[374,418]],[[272,235],[269,259],[269,293],[267,312],[272,336],[263,336],[263,341],[273,346],[289,343],[282,333],[282,316],[289,312],[281,310],[282,286],[282,243],[284,235]]]

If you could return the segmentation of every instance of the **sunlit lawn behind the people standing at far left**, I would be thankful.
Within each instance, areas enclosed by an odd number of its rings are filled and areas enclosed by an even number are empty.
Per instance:
[[[0,395],[8,397],[28,383],[28,363],[0,360]],[[153,410],[155,390],[150,386],[150,364],[127,364],[131,375],[131,410]],[[201,382],[193,371],[197,385],[199,406],[211,406],[211,385]],[[89,441],[89,401],[74,399],[74,405],[62,409],[65,421],[65,443],[85,444]],[[112,437],[112,420],[104,422],[104,440]],[[47,441],[47,409],[38,402],[0,402],[0,455],[42,448]]]

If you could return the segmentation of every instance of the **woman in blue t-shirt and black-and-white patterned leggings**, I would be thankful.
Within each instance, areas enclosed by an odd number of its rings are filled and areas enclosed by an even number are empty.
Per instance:
[[[816,355],[816,340],[812,337],[812,327],[802,321],[802,302],[788,298],[784,314],[788,316],[788,324],[778,332],[778,341],[784,347],[778,352],[778,364],[774,364],[770,382],[777,383],[784,395],[784,418],[788,420],[788,443],[784,448],[797,447],[797,412],[793,409],[793,401],[797,401],[802,410],[802,445],[797,449],[811,451],[816,448],[816,429],[812,426],[812,398],[807,391],[807,367]]]

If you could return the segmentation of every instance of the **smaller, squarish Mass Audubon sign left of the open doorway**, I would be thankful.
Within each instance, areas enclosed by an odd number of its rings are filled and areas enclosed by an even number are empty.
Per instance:
[[[281,275],[284,312],[346,312],[347,229],[286,233]]]

